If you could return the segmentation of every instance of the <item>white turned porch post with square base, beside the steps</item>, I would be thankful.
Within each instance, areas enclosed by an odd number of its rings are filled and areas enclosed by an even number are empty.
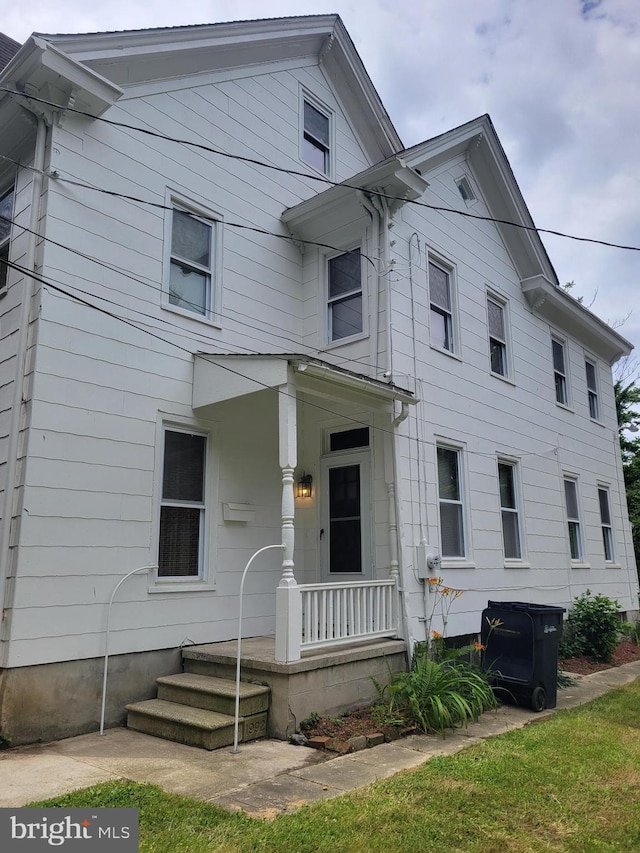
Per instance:
[[[291,368],[289,368],[291,371]],[[302,597],[293,574],[295,502],[293,472],[297,464],[296,388],[292,381],[278,387],[279,462],[282,469],[282,577],[276,590],[276,661],[300,660]]]

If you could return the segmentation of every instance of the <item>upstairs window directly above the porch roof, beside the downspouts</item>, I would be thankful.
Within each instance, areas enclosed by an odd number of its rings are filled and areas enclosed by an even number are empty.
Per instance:
[[[328,261],[329,340],[339,341],[362,332],[362,263],[360,249]]]

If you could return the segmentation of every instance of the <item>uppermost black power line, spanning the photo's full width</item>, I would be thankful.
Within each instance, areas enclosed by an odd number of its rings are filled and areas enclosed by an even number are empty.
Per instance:
[[[213,148],[211,145],[206,145],[205,143],[202,143],[202,142],[196,142],[195,140],[180,139],[178,137],[168,136],[167,134],[163,134],[163,133],[160,133],[160,132],[155,131],[155,130],[149,130],[148,128],[136,127],[136,125],[127,124],[126,122],[119,122],[119,121],[114,121],[113,119],[107,119],[107,118],[104,118],[104,116],[94,116],[91,113],[85,112],[83,110],[79,110],[75,107],[65,107],[61,104],[56,104],[54,101],[47,101],[44,98],[37,98],[34,95],[28,95],[25,92],[17,92],[13,89],[9,89],[9,88],[4,87],[4,86],[0,86],[0,92],[6,92],[10,95],[18,95],[20,97],[27,98],[28,100],[35,101],[35,102],[41,103],[41,104],[45,104],[46,106],[54,107],[55,109],[63,110],[64,112],[73,112],[73,113],[76,113],[77,115],[85,116],[86,118],[90,118],[94,121],[104,122],[105,124],[109,124],[113,127],[119,127],[119,128],[124,129],[124,130],[133,130],[137,133],[143,133],[143,134],[146,134],[147,136],[152,136],[156,139],[162,139],[166,142],[174,142],[174,143],[177,143],[178,145],[189,145],[192,148],[198,148],[202,151],[207,151],[210,154],[216,154],[220,157],[228,157],[232,160],[237,160],[237,161],[240,161],[243,163],[248,163],[248,164],[253,165],[253,166],[259,166],[260,168],[263,168],[263,169],[272,169],[276,172],[280,172],[281,174],[292,175],[294,177],[305,178],[307,180],[312,180],[312,181],[318,181],[320,183],[324,183],[324,184],[327,184],[329,186],[345,187],[347,189],[361,190],[363,192],[369,193],[370,195],[375,195],[378,198],[384,198],[384,199],[387,199],[389,201],[400,201],[403,204],[414,204],[418,207],[425,207],[428,210],[435,210],[435,211],[438,211],[440,213],[451,213],[451,214],[455,214],[458,216],[465,216],[468,219],[479,219],[479,220],[482,220],[484,222],[493,222],[497,225],[509,225],[512,228],[520,228],[521,230],[531,231],[531,232],[535,232],[537,234],[551,234],[552,236],[555,236],[555,237],[563,237],[567,240],[576,240],[576,241],[579,241],[582,243],[594,243],[596,245],[606,246],[606,247],[611,248],[611,249],[623,249],[623,250],[631,251],[631,252],[640,252],[640,246],[628,246],[628,245],[625,245],[622,243],[612,243],[612,242],[609,242],[608,240],[598,240],[597,238],[594,238],[594,237],[578,237],[575,234],[567,234],[563,231],[556,231],[556,230],[551,229],[551,228],[538,228],[535,225],[525,225],[522,222],[513,222],[509,219],[500,219],[498,217],[493,217],[493,216],[483,216],[483,215],[478,214],[478,213],[471,213],[468,210],[466,210],[466,211],[465,210],[454,210],[453,208],[449,208],[449,207],[443,207],[443,206],[435,205],[435,204],[428,204],[427,202],[419,201],[418,199],[407,199],[407,198],[404,198],[402,196],[394,196],[394,195],[390,195],[388,193],[383,193],[380,190],[371,189],[371,188],[367,188],[367,187],[361,187],[361,186],[358,186],[357,184],[350,184],[346,181],[341,181],[341,182],[332,181],[330,178],[327,178],[327,177],[324,177],[321,175],[313,175],[313,174],[310,174],[308,172],[301,172],[297,169],[287,169],[284,166],[276,166],[272,163],[266,163],[262,160],[257,160],[254,157],[245,157],[241,154],[230,154],[226,151],[221,151],[218,148]]]

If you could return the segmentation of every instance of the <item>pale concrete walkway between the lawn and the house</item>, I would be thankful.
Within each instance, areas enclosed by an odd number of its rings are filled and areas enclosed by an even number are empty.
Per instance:
[[[558,694],[573,708],[640,677],[640,661],[594,675]],[[21,806],[109,779],[150,782],[165,791],[271,818],[313,800],[336,797],[450,755],[485,738],[521,728],[555,711],[535,714],[504,706],[446,738],[410,735],[393,743],[332,758],[333,753],[264,740],[207,752],[128,729],[82,735],[0,752],[0,807]]]

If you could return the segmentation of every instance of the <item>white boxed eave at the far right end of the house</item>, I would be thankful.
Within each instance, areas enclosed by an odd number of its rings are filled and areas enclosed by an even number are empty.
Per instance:
[[[570,334],[594,355],[613,364],[631,353],[633,344],[544,276],[520,284],[535,314]]]

